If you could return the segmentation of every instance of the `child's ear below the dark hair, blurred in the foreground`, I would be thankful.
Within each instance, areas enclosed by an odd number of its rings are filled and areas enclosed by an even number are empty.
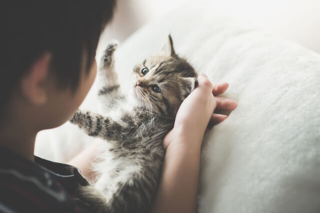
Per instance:
[[[45,80],[49,73],[50,60],[51,54],[43,53],[21,79],[21,92],[33,104],[43,104],[46,101]]]

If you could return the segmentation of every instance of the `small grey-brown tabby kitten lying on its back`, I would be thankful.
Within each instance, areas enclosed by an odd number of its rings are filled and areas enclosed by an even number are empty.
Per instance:
[[[196,87],[197,74],[175,53],[169,35],[166,51],[133,68],[131,90],[120,93],[110,43],[99,65],[106,115],[77,111],[70,122],[106,141],[97,181],[79,188],[79,198],[99,213],[149,213],[165,150],[162,140],[183,99]]]

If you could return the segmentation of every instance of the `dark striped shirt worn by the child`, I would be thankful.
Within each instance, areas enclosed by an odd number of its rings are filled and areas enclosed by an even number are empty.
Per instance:
[[[87,185],[75,167],[0,149],[0,213],[90,213],[75,195]]]

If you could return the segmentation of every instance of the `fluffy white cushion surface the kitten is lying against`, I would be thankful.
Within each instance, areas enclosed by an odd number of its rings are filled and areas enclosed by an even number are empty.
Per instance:
[[[199,212],[320,212],[320,55],[224,18],[213,7],[181,7],[118,47],[115,66],[124,91],[133,65],[158,51],[168,32],[176,52],[211,81],[228,82],[223,96],[238,102],[205,136]],[[46,134],[37,140],[42,157]],[[58,143],[61,151],[65,143]],[[68,152],[81,146],[73,142]]]

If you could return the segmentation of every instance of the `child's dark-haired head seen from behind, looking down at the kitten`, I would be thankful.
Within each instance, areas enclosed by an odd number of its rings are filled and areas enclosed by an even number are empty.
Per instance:
[[[93,83],[97,42],[114,4],[18,0],[1,6],[2,122],[20,118],[40,130],[71,116]]]

